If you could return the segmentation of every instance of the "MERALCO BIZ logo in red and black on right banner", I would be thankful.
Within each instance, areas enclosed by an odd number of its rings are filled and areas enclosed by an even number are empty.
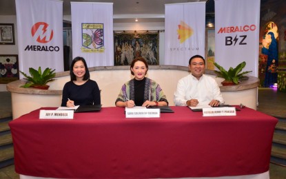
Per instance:
[[[225,28],[220,28],[218,30],[218,34],[223,34],[223,33],[234,33],[234,32],[248,32],[248,31],[254,31],[256,30],[256,25],[241,25],[241,26],[230,26],[230,27],[225,27]],[[236,35],[236,36],[225,36],[225,45],[236,45],[238,42],[238,45],[247,45],[245,40],[247,39],[247,35]]]

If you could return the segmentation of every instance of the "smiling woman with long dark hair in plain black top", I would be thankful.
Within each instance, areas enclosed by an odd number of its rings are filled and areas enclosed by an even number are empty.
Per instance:
[[[70,81],[63,87],[61,106],[100,105],[101,95],[96,81],[90,79],[88,65],[83,57],[73,59],[70,67]]]

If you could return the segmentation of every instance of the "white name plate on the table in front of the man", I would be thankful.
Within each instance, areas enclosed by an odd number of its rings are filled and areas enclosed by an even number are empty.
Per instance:
[[[203,108],[203,116],[236,116],[235,107]]]

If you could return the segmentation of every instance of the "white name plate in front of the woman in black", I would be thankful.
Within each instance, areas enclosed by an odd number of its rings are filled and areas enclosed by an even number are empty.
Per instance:
[[[73,119],[74,110],[40,110],[40,119]]]

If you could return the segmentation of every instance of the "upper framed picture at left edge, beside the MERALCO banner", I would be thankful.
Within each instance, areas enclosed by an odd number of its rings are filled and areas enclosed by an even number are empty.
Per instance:
[[[0,45],[14,45],[14,24],[0,23]]]

